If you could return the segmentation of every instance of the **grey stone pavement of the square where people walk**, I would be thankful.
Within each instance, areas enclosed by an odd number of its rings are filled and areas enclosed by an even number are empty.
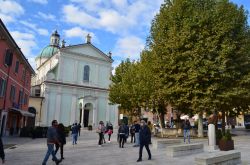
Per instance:
[[[107,137],[106,137],[107,139]],[[250,136],[234,137],[235,149],[241,151],[242,165],[250,165]],[[45,156],[47,146],[46,139],[30,139],[20,137],[4,137],[5,144],[17,144],[12,149],[6,149],[6,165],[41,165]],[[153,149],[152,160],[147,160],[147,152],[143,150],[143,161],[137,163],[138,147],[133,147],[130,142],[125,144],[125,148],[119,148],[116,142],[116,133],[112,136],[111,143],[106,143],[102,147],[97,145],[98,135],[93,131],[82,130],[77,145],[73,146],[70,137],[65,145],[62,165],[193,165],[194,158],[200,154],[169,158],[166,156],[166,149]],[[192,139],[192,143],[202,142],[207,139]],[[217,151],[218,152],[218,151]],[[59,153],[57,154],[59,156]],[[47,165],[55,164],[51,157]]]

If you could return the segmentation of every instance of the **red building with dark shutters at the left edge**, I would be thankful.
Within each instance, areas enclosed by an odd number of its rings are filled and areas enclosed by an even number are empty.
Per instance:
[[[1,135],[18,134],[35,117],[28,111],[32,74],[34,70],[0,19]]]

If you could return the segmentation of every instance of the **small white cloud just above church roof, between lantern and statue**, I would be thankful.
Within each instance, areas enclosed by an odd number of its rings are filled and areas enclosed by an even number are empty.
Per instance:
[[[92,37],[92,40],[94,43],[99,43],[96,35],[92,32],[86,31],[81,29],[80,27],[73,27],[71,29],[68,30],[64,30],[63,33],[65,34],[65,37],[68,38],[73,38],[73,37],[78,37],[81,38],[82,40],[85,40],[85,37],[90,34],[90,36]]]

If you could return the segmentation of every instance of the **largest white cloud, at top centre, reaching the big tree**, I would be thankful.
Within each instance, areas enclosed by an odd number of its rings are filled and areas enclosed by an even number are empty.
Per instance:
[[[84,28],[124,35],[150,26],[163,0],[71,0],[63,7],[64,21]],[[140,22],[140,23],[138,23]]]

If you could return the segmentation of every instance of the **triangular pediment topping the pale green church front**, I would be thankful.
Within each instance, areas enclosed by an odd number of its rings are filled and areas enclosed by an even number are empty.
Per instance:
[[[66,53],[72,53],[76,55],[82,55],[89,58],[95,58],[103,61],[112,63],[113,60],[110,59],[105,53],[93,46],[92,44],[80,44],[68,46],[62,49]]]

